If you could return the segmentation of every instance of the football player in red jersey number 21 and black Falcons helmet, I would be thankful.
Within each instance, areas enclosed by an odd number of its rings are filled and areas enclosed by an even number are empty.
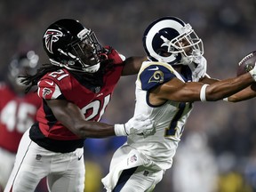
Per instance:
[[[36,123],[20,141],[4,191],[32,192],[47,176],[50,191],[83,192],[84,139],[153,130],[151,120],[143,116],[126,124],[99,122],[120,76],[138,73],[145,58],[125,60],[112,47],[102,47],[91,29],[72,19],[52,23],[44,32],[43,44],[51,64],[23,79],[28,90],[37,84],[43,105]]]

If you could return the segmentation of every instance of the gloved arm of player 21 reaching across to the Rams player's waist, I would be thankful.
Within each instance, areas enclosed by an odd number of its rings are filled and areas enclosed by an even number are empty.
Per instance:
[[[109,136],[127,136],[129,134],[148,134],[153,131],[153,123],[138,116],[126,124],[104,124],[100,122],[86,121],[74,103],[67,100],[46,100],[47,105],[52,109],[53,115],[80,138],[105,138]]]

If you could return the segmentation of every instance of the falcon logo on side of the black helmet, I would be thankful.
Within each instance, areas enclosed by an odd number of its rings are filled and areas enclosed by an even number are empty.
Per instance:
[[[52,44],[57,42],[59,40],[60,36],[63,36],[63,33],[60,30],[56,30],[56,29],[48,29],[44,33],[44,44],[45,44],[45,47],[52,54],[53,54],[53,52],[52,52]]]

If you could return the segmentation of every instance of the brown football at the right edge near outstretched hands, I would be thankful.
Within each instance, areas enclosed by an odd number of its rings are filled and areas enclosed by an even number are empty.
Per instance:
[[[236,70],[236,76],[249,72],[254,68],[256,62],[256,51],[247,54],[239,63]]]

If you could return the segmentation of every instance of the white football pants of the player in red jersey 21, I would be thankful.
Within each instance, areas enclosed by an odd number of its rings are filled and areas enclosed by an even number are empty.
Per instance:
[[[55,153],[30,140],[29,129],[20,140],[12,174],[4,192],[34,192],[47,176],[52,192],[84,192],[84,148],[70,153]]]

